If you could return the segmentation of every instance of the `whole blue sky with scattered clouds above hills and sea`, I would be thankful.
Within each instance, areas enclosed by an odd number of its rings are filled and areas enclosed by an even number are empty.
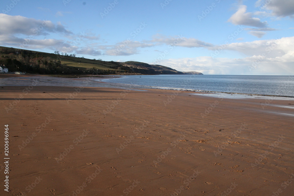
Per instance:
[[[2,0],[0,45],[204,74],[293,75],[294,0]]]

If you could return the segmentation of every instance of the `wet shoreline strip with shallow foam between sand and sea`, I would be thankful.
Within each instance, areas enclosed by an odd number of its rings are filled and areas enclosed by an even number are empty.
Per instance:
[[[10,75],[10,76],[5,76]],[[194,89],[183,89],[183,88],[172,88],[172,87],[159,87],[159,86],[142,86],[136,84],[125,84],[125,83],[110,83],[103,80],[109,79],[117,79],[121,78],[121,75],[115,76],[91,76],[87,75],[87,77],[61,77],[61,76],[51,76],[51,75],[39,75],[39,74],[28,74],[28,75],[14,75],[14,74],[4,74],[0,75],[0,86],[14,86],[17,81],[19,81],[18,77],[30,77],[32,78],[29,82],[22,80],[21,86],[29,86],[30,82],[34,80],[40,80],[45,78],[41,82],[38,82],[38,86],[76,86],[80,87],[81,84],[83,87],[109,87],[109,88],[130,88],[130,89],[162,89],[162,90],[176,90],[176,91],[187,91],[187,92],[195,92],[195,94],[203,94],[206,96],[219,97],[222,96],[224,98],[262,98],[262,99],[283,99],[283,100],[293,100],[294,96],[284,96],[284,95],[266,95],[266,94],[249,94],[249,93],[237,93],[237,92],[220,92],[220,91],[206,91],[206,90],[194,90]],[[149,75],[148,75],[149,76]],[[17,77],[17,78],[15,78]],[[1,78],[11,78],[9,82],[1,80]],[[54,83],[56,78],[63,78],[63,83]],[[99,78],[99,79],[98,79]],[[73,79],[73,80],[71,80]],[[61,79],[59,79],[61,80]],[[75,82],[74,82],[75,81]],[[194,93],[192,93],[194,94]],[[228,96],[234,95],[234,96]]]

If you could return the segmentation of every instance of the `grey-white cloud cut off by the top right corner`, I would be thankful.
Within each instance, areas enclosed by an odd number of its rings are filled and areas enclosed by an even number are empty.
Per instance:
[[[258,0],[255,6],[260,10],[269,10],[273,16],[294,17],[294,0]]]

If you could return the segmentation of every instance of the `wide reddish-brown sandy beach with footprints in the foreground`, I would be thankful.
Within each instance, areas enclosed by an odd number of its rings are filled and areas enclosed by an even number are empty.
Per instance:
[[[2,133],[9,128],[0,195],[293,195],[293,99],[78,86],[0,92]]]

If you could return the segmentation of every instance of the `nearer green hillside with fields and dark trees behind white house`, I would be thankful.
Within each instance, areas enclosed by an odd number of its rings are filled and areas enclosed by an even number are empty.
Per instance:
[[[92,60],[87,58],[30,51],[0,46],[0,63],[9,71],[40,74],[123,74],[117,62]]]

